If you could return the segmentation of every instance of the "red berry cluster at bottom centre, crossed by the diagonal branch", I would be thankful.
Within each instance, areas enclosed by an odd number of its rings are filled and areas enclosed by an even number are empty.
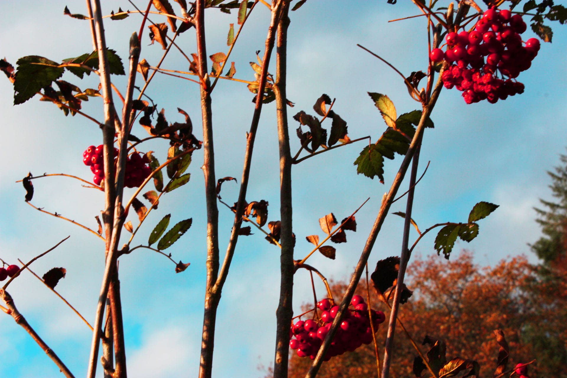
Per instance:
[[[289,346],[291,349],[297,350],[298,356],[310,356],[311,359],[315,359],[319,347],[329,329],[331,329],[331,323],[338,312],[338,306],[332,304],[330,299],[319,301],[317,307],[323,311],[320,319],[299,320],[291,326]],[[335,339],[331,342],[331,347],[325,355],[325,361],[333,356],[343,354],[345,351],[352,352],[362,344],[370,344],[373,340],[368,306],[364,299],[360,295],[353,295],[350,304],[353,305],[354,309],[346,311],[340,328],[335,334]],[[374,331],[376,331],[378,325],[386,320],[386,316],[382,311],[371,310],[371,312]]]

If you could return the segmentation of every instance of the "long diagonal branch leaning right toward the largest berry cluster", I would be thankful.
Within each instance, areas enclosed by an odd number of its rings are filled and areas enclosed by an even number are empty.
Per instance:
[[[407,154],[405,154],[404,160],[400,165],[400,169],[397,172],[396,177],[394,178],[394,180],[392,182],[392,186],[390,188],[390,191],[382,199],[382,205],[380,206],[378,216],[376,216],[374,226],[372,227],[372,230],[370,231],[368,239],[366,240],[366,245],[365,245],[364,249],[362,250],[362,253],[361,253],[361,256],[358,260],[358,264],[356,266],[356,269],[354,270],[352,278],[350,279],[350,283],[349,283],[349,286],[348,286],[348,288],[345,292],[345,296],[342,299],[341,304],[339,305],[339,310],[337,312],[337,315],[335,316],[335,319],[333,320],[331,329],[329,330],[327,337],[325,337],[325,341],[323,342],[323,345],[321,345],[319,352],[317,353],[317,356],[315,357],[315,360],[311,364],[311,368],[309,369],[309,371],[307,372],[307,374],[305,376],[306,378],[314,378],[317,375],[319,368],[321,367],[321,363],[323,363],[324,355],[327,352],[327,350],[329,349],[329,346],[331,346],[331,342],[333,340],[333,337],[335,337],[335,334],[337,332],[337,327],[340,324],[340,322],[342,321],[342,316],[343,316],[345,310],[348,308],[350,300],[352,299],[352,296],[354,294],[354,289],[356,289],[358,281],[359,281],[359,279],[362,275],[362,271],[364,270],[366,262],[368,261],[368,258],[370,256],[370,252],[371,252],[372,248],[374,247],[374,242],[376,241],[376,237],[378,236],[378,233],[380,232],[380,228],[382,228],[382,224],[384,223],[384,220],[386,219],[386,215],[388,214],[388,211],[390,210],[390,206],[392,205],[392,201],[396,197],[397,190],[400,188],[401,181],[404,179],[405,172],[407,171],[407,169],[409,167],[409,163],[411,162],[413,155],[416,152],[417,143],[420,140],[421,135],[422,135],[422,133],[425,129],[425,120],[429,117],[429,114],[431,114],[431,111],[433,110],[433,107],[435,106],[435,101],[437,101],[437,97],[439,96],[439,92],[441,92],[441,87],[442,87],[441,74],[442,73],[443,73],[443,69],[441,69],[441,72],[439,73],[439,79],[437,80],[437,84],[435,85],[435,89],[433,90],[433,93],[431,94],[431,99],[430,99],[429,103],[427,105],[425,105],[424,108],[423,108],[420,123],[417,126],[415,134],[413,135],[412,142],[409,145],[408,152],[407,152]],[[384,378],[384,377],[382,377],[382,378]]]

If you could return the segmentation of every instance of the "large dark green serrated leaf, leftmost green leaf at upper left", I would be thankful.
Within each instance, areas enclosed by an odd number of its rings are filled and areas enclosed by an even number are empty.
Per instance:
[[[35,55],[19,58],[16,64],[18,70],[14,77],[14,105],[25,103],[41,88],[50,86],[65,71],[58,67],[59,63]]]

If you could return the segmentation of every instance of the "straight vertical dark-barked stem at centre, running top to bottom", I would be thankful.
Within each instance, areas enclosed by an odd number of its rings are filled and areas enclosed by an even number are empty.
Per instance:
[[[287,74],[287,28],[290,20],[287,16],[289,3],[283,7],[278,24],[276,54],[276,114],[278,121],[278,140],[280,144],[280,216],[281,216],[281,254],[280,254],[280,303],[276,311],[276,356],[274,358],[274,378],[287,378],[289,359],[289,325],[293,317],[293,233],[291,209],[291,152],[287,125],[286,74]],[[313,277],[311,276],[311,279]],[[315,290],[315,289],[314,289]]]

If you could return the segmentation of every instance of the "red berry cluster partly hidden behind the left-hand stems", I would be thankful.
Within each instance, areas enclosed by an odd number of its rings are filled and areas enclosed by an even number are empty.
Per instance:
[[[118,148],[114,149],[114,157],[118,156]],[[98,147],[89,146],[83,152],[83,163],[91,166],[92,173],[95,174],[92,179],[96,185],[104,180],[104,165],[103,165],[103,145]],[[139,152],[134,152],[126,158],[126,173],[124,176],[124,185],[127,188],[134,188],[142,185],[147,176],[151,173],[151,168],[148,165],[150,160],[146,155],[140,155]]]

